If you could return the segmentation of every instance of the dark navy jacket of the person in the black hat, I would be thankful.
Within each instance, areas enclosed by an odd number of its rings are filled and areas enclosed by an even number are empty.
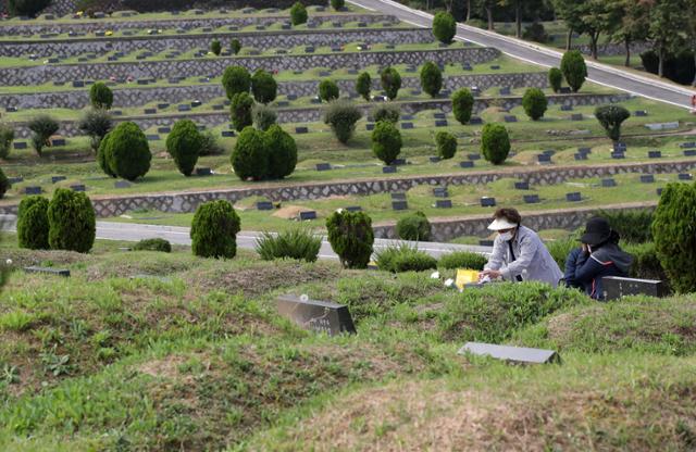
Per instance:
[[[573,250],[566,261],[566,284],[582,287],[595,300],[604,300],[601,278],[605,276],[629,276],[633,256],[616,243],[606,243],[592,254],[580,248]]]

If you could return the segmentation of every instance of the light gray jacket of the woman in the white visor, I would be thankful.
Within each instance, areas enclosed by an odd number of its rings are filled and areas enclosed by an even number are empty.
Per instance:
[[[493,242],[493,253],[488,259],[485,269],[497,269],[502,278],[508,281],[517,280],[521,276],[523,280],[536,280],[548,282],[552,287],[563,277],[554,258],[539,239],[539,236],[529,227],[520,226],[512,239],[512,251],[515,260],[510,255],[510,246],[496,237]]]

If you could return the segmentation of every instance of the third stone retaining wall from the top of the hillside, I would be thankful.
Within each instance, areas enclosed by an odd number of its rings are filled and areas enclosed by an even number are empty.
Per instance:
[[[345,67],[387,66],[391,64],[421,65],[426,61],[434,63],[481,64],[498,56],[500,52],[493,48],[434,49],[419,51],[384,52],[336,52],[304,55],[276,56],[236,56],[203,58],[192,60],[164,60],[140,62],[49,64],[32,67],[0,68],[2,85],[39,85],[51,81],[104,80],[111,77],[126,79],[156,78],[200,75],[222,75],[232,65],[241,65],[249,71],[266,68],[270,71],[307,71],[314,67],[330,70]]]

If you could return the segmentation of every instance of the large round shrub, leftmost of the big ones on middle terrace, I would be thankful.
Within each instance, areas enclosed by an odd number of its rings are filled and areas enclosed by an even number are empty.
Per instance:
[[[101,141],[98,160],[104,173],[135,180],[150,171],[150,146],[140,127],[132,122],[119,124]]]

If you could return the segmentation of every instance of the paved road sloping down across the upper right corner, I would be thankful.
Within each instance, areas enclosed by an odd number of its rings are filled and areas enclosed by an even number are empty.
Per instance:
[[[348,1],[362,8],[393,14],[401,21],[417,26],[427,28],[432,26],[432,14],[410,9],[393,0]],[[468,25],[458,25],[457,38],[472,41],[480,46],[495,47],[505,54],[545,67],[559,66],[562,56],[561,52]],[[675,87],[589,60],[587,60],[587,73],[588,79],[597,84],[685,109],[691,105],[691,96],[696,93],[696,90]]]

